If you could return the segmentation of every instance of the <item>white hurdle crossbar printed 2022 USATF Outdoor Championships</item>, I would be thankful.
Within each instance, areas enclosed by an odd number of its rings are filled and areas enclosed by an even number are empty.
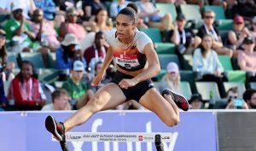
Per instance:
[[[52,136],[52,141],[56,141]],[[164,151],[163,142],[172,141],[172,133],[164,132],[68,132],[67,142],[154,142],[157,151]]]

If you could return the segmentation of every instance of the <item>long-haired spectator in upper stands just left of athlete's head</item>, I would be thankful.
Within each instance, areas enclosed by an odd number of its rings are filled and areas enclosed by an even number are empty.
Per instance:
[[[108,24],[108,11],[106,9],[99,9],[96,12],[95,20],[84,21],[84,26],[90,27],[91,32],[109,31],[112,26]]]

